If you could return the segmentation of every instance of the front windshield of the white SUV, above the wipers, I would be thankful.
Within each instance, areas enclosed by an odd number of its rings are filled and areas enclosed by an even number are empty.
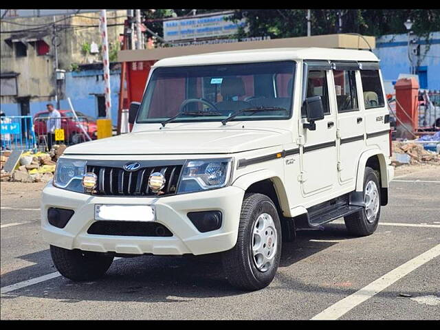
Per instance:
[[[280,120],[292,111],[295,62],[158,67],[140,107],[139,123]]]

